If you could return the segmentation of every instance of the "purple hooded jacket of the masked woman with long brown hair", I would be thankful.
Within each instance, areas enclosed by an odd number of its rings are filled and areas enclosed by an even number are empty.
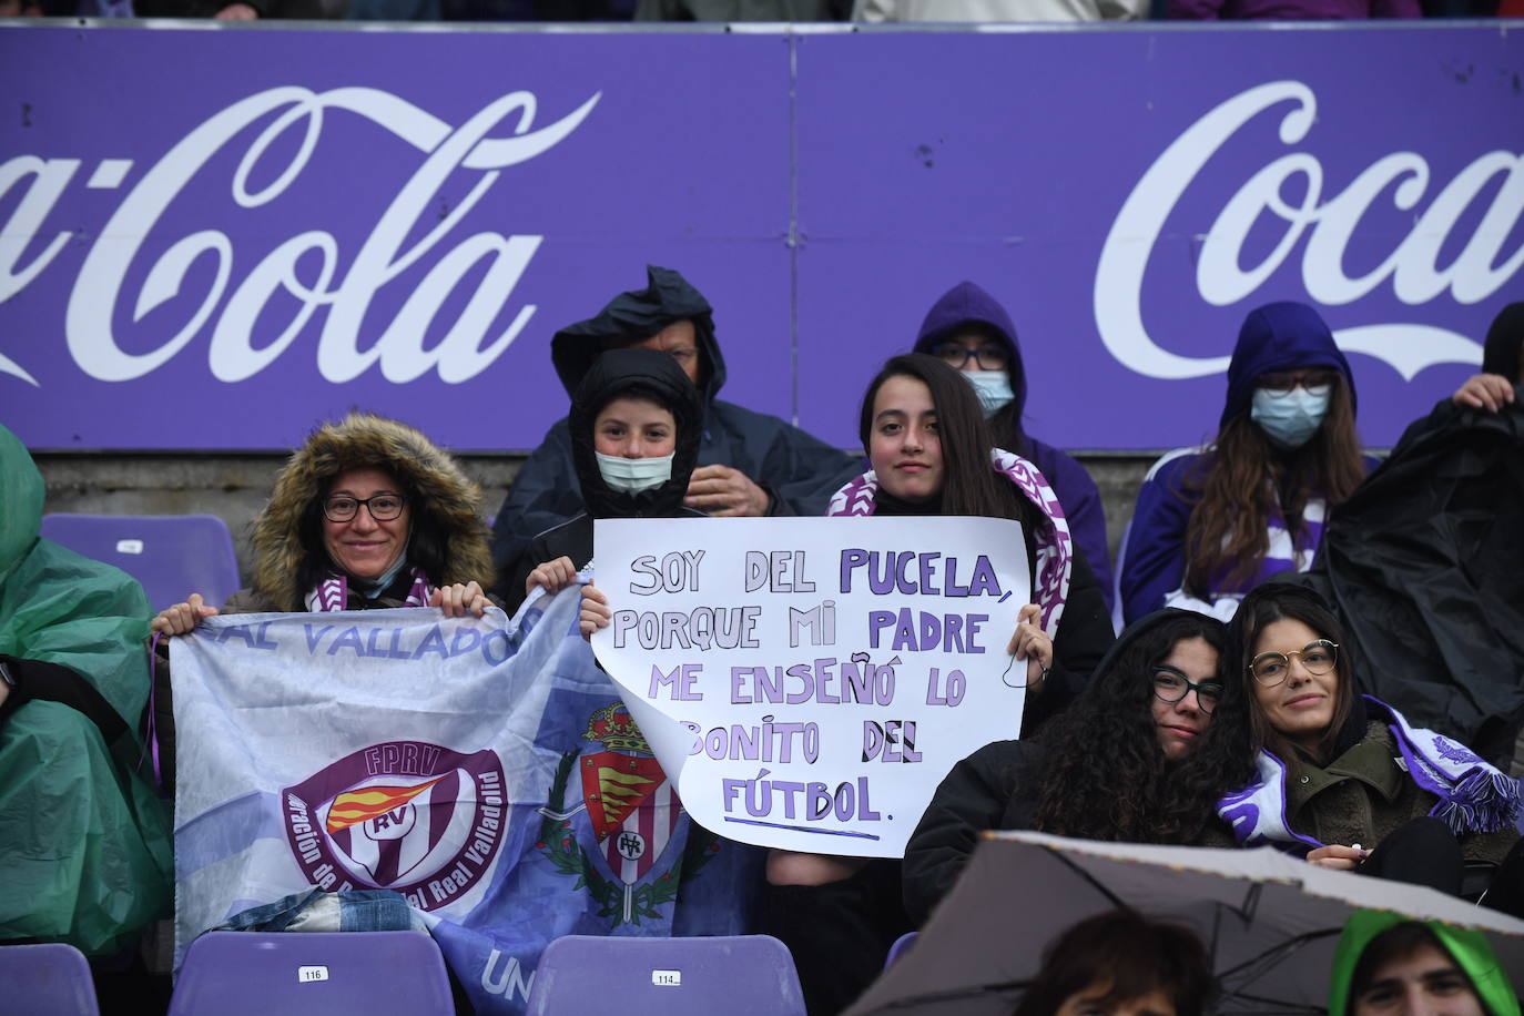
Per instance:
[[[1349,361],[1317,311],[1301,303],[1271,303],[1251,312],[1239,331],[1228,363],[1228,393],[1221,427],[1247,414],[1260,375],[1298,367],[1323,367],[1344,375],[1350,410],[1356,405],[1355,378]],[[1119,588],[1123,620],[1131,623],[1177,602],[1186,580],[1186,530],[1201,500],[1201,483],[1210,469],[1210,449],[1173,451],[1149,469],[1138,489],[1137,507],[1119,553]],[[1376,460],[1367,457],[1367,468]],[[1321,524],[1321,519],[1317,521]],[[1266,562],[1277,561],[1274,554]],[[1282,567],[1292,568],[1285,559]],[[1303,565],[1305,567],[1305,565]],[[1212,596],[1241,596],[1248,585],[1212,589]]]

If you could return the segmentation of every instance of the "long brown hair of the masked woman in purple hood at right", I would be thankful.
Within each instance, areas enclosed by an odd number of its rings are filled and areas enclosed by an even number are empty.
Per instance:
[[[1324,498],[1329,509],[1366,478],[1349,382],[1332,372],[1323,425],[1306,445],[1277,449],[1250,417],[1250,410],[1222,425],[1202,469],[1184,478],[1199,494],[1186,524],[1186,591],[1210,599],[1218,583],[1241,585],[1254,577],[1269,551],[1271,497],[1280,492],[1280,513],[1295,535],[1308,501]]]

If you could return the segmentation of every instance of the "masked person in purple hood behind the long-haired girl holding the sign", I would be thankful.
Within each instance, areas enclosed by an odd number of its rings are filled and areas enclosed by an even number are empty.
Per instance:
[[[1023,430],[1027,372],[1006,308],[972,282],[960,282],[927,311],[914,352],[931,353],[962,370],[978,391],[995,443],[1042,471],[1111,609],[1114,589],[1100,490],[1084,466]]]

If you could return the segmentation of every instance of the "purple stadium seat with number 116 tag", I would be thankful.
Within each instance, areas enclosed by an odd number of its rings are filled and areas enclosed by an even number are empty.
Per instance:
[[[169,1016],[453,1016],[439,946],[416,931],[209,931],[190,943]]]

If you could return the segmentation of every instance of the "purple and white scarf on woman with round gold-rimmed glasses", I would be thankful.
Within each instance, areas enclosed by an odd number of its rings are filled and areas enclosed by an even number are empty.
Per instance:
[[[1393,759],[1393,765],[1405,769],[1410,780],[1439,798],[1430,815],[1443,820],[1455,835],[1513,829],[1519,813],[1518,780],[1443,734],[1410,727],[1402,713],[1385,702],[1369,695],[1362,698],[1391,719],[1387,730],[1396,737],[1402,752]],[[1218,801],[1218,816],[1233,827],[1233,838],[1239,845],[1269,845],[1280,850],[1324,845],[1294,832],[1286,821],[1286,763],[1260,751],[1254,768],[1254,783]]]

